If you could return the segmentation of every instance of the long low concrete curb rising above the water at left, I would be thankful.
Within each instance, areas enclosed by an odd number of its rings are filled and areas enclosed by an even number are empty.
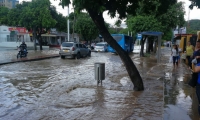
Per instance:
[[[18,63],[18,62],[38,61],[38,60],[56,58],[56,57],[59,57],[59,56],[60,55],[45,55],[45,56],[36,56],[36,57],[33,57],[33,58],[21,58],[21,59],[16,59],[16,60],[9,61],[9,62],[2,62],[2,63],[0,63],[0,65],[6,65],[6,64],[11,64],[11,63]]]

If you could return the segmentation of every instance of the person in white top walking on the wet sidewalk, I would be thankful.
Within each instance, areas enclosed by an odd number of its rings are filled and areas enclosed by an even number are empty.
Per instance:
[[[172,53],[171,53],[174,68],[178,67],[178,55],[179,55],[178,47],[177,47],[177,45],[174,44]]]

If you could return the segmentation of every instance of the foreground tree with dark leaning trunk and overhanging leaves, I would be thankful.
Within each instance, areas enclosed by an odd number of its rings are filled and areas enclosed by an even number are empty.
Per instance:
[[[135,14],[135,9],[139,6],[139,1],[140,0],[73,0],[75,10],[81,11],[85,9],[96,24],[105,41],[119,54],[126,67],[129,77],[134,84],[134,90],[144,90],[142,78],[129,55],[110,35],[104,23],[103,12],[108,11],[108,14],[111,17],[115,17],[118,13],[119,18],[123,19],[126,17],[127,13]],[[168,8],[176,2],[176,0],[161,1],[165,2],[163,9]],[[70,4],[70,0],[61,0],[61,4],[62,6],[68,6]]]

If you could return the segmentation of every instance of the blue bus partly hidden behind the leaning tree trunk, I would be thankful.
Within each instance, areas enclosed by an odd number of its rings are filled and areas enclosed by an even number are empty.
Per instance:
[[[134,49],[133,37],[124,34],[111,34],[111,36],[127,53],[133,51]],[[116,51],[110,45],[108,45],[108,52],[116,53]]]

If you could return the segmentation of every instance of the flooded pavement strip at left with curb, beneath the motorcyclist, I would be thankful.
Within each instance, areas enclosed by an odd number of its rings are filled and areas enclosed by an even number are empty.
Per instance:
[[[50,49],[42,51],[29,50],[27,57],[18,59],[17,53],[18,50],[15,49],[1,48],[0,56],[2,56],[2,58],[0,59],[0,65],[59,57],[59,49]]]

